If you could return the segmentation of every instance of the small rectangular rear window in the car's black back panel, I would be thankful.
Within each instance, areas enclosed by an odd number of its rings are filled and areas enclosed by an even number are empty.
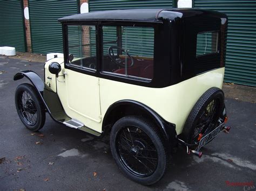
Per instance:
[[[197,34],[197,56],[218,53],[219,32],[201,32]]]

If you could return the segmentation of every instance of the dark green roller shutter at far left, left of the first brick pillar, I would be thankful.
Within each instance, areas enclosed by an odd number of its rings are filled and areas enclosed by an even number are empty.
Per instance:
[[[23,2],[20,0],[0,0],[0,46],[26,52]]]

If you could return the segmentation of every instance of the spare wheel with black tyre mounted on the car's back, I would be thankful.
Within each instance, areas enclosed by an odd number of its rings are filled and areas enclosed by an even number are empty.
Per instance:
[[[200,137],[217,128],[223,105],[223,91],[215,87],[208,89],[187,117],[182,133],[185,142],[198,144]]]

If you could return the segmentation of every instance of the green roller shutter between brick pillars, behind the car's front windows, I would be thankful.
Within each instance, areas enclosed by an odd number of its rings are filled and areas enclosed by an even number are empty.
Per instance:
[[[77,14],[77,0],[29,0],[32,52],[63,52],[62,25],[58,18]]]

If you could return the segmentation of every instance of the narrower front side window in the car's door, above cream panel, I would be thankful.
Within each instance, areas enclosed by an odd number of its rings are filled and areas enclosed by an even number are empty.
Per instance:
[[[69,65],[96,70],[95,26],[68,26]]]

